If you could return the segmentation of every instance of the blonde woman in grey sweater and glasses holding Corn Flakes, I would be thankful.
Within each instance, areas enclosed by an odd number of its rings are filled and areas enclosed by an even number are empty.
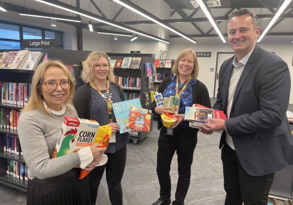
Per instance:
[[[31,95],[18,120],[18,136],[28,166],[28,205],[89,204],[88,179],[79,169],[93,169],[104,148],[94,145],[52,159],[65,116],[78,117],[70,104],[73,77],[60,61],[47,60],[35,70]]]

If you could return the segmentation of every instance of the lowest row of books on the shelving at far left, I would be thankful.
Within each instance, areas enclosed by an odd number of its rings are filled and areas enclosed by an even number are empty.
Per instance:
[[[7,159],[6,174],[17,179],[28,180],[28,167],[26,163]]]

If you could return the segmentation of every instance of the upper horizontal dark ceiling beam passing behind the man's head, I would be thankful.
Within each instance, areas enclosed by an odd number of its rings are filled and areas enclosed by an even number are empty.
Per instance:
[[[258,14],[258,19],[261,18],[271,18],[274,14]],[[218,22],[221,20],[228,20],[229,16],[217,16],[214,19]],[[285,13],[280,16],[280,18],[293,18],[293,13]],[[171,24],[171,23],[188,23],[188,22],[208,22],[206,17],[198,17],[198,18],[176,18],[176,19],[162,19],[162,22]],[[122,23],[122,22],[119,22]],[[151,20],[132,20],[128,22],[123,22],[125,25],[136,25],[136,24],[155,24]],[[96,26],[107,26],[106,24],[97,23]]]

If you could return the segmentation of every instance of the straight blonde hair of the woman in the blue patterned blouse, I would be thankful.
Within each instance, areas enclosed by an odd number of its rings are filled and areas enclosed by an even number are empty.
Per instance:
[[[192,49],[184,49],[183,51],[181,51],[178,55],[178,57],[176,58],[175,60],[175,63],[173,65],[173,68],[172,68],[172,72],[175,73],[176,76],[179,75],[179,72],[178,72],[178,64],[179,64],[179,61],[184,57],[186,56],[187,54],[190,54],[192,53],[193,57],[194,57],[194,65],[193,65],[193,71],[191,73],[191,76],[195,79],[197,78],[198,76],[198,72],[199,72],[199,66],[198,66],[198,62],[197,62],[197,57],[196,57],[196,54],[195,54],[195,51],[192,50]]]

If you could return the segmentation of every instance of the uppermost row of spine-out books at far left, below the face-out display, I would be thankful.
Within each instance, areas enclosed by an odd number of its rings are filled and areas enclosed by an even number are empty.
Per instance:
[[[25,107],[31,93],[31,84],[0,82],[0,103]]]

